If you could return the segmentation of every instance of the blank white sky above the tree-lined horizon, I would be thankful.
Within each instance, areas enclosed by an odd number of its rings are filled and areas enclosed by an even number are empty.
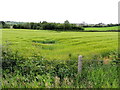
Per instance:
[[[118,23],[120,0],[0,0],[0,21]]]

